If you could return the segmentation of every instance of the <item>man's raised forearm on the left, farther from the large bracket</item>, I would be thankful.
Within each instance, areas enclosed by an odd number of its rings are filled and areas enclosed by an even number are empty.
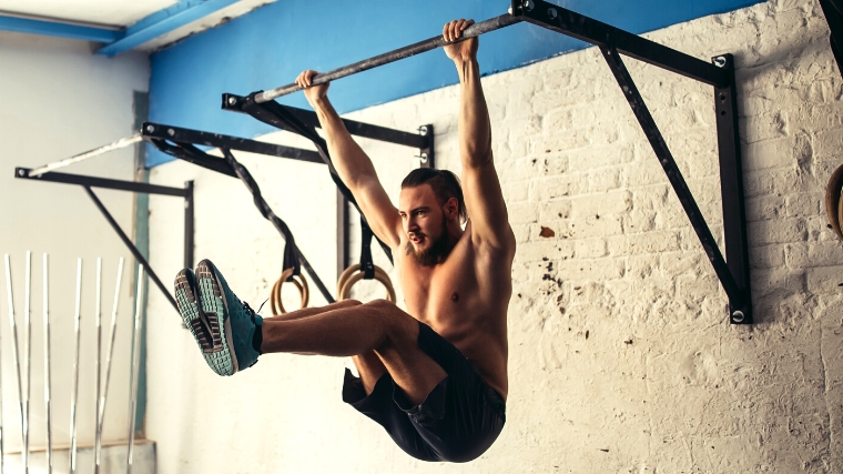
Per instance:
[[[357,183],[368,178],[376,178],[377,174],[372,160],[348,133],[343,120],[328,99],[318,99],[312,105],[319,119],[322,130],[325,132],[325,141],[328,144],[334,168],[348,189],[354,192]]]

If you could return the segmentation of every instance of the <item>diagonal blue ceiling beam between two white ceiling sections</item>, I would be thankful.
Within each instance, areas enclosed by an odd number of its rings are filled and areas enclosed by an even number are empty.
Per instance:
[[[190,24],[209,14],[236,3],[240,0],[182,0],[181,2],[150,14],[126,28],[125,34],[97,51],[97,54],[112,57],[129,51],[162,34]]]

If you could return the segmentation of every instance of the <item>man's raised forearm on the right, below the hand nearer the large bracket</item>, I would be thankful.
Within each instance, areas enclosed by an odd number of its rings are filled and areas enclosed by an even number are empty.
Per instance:
[[[459,141],[464,165],[480,165],[491,159],[489,110],[480,85],[477,60],[455,61],[460,84]]]

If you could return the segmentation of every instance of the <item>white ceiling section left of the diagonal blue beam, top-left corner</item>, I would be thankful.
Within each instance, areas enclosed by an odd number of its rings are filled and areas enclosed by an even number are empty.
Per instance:
[[[0,0],[0,10],[57,20],[128,27],[177,2],[177,0]]]

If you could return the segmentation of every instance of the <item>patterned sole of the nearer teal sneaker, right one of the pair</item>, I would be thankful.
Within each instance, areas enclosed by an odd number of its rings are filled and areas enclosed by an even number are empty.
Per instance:
[[[209,260],[199,262],[196,280],[199,307],[207,319],[213,339],[213,351],[204,353],[205,361],[217,374],[234,375],[237,373],[238,365],[231,339],[231,312],[214,264]],[[222,324],[220,324],[221,319]]]

